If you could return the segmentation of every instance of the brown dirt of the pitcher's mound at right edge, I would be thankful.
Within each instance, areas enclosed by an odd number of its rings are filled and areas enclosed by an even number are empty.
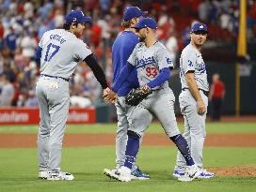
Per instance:
[[[256,165],[209,168],[207,170],[216,173],[216,176],[256,176]]]

